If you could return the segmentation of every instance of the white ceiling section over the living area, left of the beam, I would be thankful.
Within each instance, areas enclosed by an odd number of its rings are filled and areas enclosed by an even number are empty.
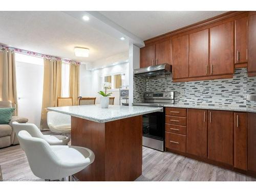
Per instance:
[[[129,43],[114,38],[63,12],[0,11],[0,43],[42,54],[94,62],[128,51]],[[76,57],[74,47],[90,49],[89,57]]]

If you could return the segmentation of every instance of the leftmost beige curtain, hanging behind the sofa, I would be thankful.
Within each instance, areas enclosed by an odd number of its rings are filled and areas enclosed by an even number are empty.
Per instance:
[[[0,100],[16,105],[14,115],[18,115],[15,53],[6,49],[0,51]]]

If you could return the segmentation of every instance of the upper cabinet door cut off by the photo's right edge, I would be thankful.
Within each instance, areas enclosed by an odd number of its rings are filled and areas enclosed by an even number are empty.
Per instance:
[[[256,76],[256,14],[248,21],[248,75]]]

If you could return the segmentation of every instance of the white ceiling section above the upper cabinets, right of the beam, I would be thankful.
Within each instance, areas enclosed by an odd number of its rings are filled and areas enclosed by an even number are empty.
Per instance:
[[[100,11],[143,40],[200,22],[227,11]]]

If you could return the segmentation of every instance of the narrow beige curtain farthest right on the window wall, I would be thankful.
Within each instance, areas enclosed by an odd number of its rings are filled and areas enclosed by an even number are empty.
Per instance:
[[[76,63],[70,63],[69,96],[73,99],[73,105],[77,105],[79,96],[79,65]]]

